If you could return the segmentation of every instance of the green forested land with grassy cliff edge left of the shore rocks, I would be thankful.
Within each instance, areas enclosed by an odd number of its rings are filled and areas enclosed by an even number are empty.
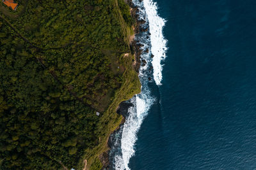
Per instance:
[[[140,92],[129,6],[17,3],[0,4],[0,169],[100,169],[118,104]]]

